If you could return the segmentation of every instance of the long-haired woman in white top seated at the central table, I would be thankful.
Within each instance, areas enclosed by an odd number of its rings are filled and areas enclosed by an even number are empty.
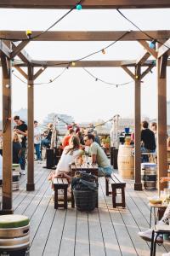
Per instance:
[[[70,164],[75,162],[75,159],[82,156],[82,150],[80,149],[80,140],[77,136],[72,136],[69,142],[69,146],[66,146],[61,154],[59,164],[55,173],[50,173],[48,180],[54,177],[66,177],[69,181]]]

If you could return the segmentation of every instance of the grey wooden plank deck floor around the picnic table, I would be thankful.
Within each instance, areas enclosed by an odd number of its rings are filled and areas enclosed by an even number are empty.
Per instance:
[[[26,177],[20,190],[14,192],[14,213],[31,219],[31,256],[130,256],[150,255],[150,243],[137,233],[149,228],[150,207],[147,196],[153,192],[137,192],[127,181],[127,208],[113,209],[111,196],[105,196],[105,181],[99,179],[99,209],[92,213],[76,209],[54,210],[50,170],[36,166],[36,190],[26,191]],[[156,255],[170,251],[168,244],[157,246]]]

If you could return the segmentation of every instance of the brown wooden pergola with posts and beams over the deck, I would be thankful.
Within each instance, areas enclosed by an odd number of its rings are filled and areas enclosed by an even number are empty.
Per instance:
[[[147,0],[143,3],[136,3],[136,0],[84,0],[82,2],[84,9],[116,9],[116,8],[169,8],[169,0]],[[75,5],[75,1],[36,1],[30,0],[29,3],[23,3],[21,0],[0,1],[0,8],[37,8],[37,9],[70,9]],[[32,32],[32,37],[41,32]],[[35,41],[114,41],[120,38],[125,32],[46,32],[42,36],[35,38]],[[147,36],[146,34],[150,35]],[[11,73],[14,66],[27,79],[28,96],[28,172],[27,172],[27,190],[34,190],[34,144],[33,144],[33,121],[34,121],[34,81],[48,67],[67,67],[71,61],[37,61],[31,59],[26,51],[27,44],[31,40],[26,40],[26,32],[1,31],[0,32],[0,57],[3,70],[3,127],[6,131],[3,133],[3,213],[13,212],[12,207],[12,143],[11,143],[11,122],[8,117],[11,116]],[[156,49],[150,49],[147,41],[155,38],[161,44],[157,44]],[[141,79],[151,71],[153,67],[157,70],[157,122],[158,122],[158,179],[167,176],[167,66],[170,61],[167,60],[170,47],[170,31],[147,31],[127,32],[121,38],[121,41],[138,41],[144,48],[144,53],[138,56],[136,60],[128,61],[77,61],[76,67],[121,67],[134,81],[134,131],[135,131],[135,157],[134,189],[141,190],[140,173],[140,85]],[[6,40],[5,40],[6,39]],[[8,39],[8,41],[7,41]],[[17,43],[15,41],[19,41]],[[165,46],[166,45],[166,46]],[[15,56],[20,61],[13,61]],[[148,60],[152,56],[152,60]],[[61,64],[67,63],[67,64]],[[27,72],[22,68],[27,67]],[[34,67],[40,67],[35,72]],[[74,66],[70,66],[74,67]],[[129,67],[133,67],[129,69]],[[142,67],[144,71],[142,72]],[[159,189],[163,189],[165,184],[159,184]]]

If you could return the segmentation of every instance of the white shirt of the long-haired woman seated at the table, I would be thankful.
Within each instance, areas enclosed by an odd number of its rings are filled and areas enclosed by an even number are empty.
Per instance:
[[[59,174],[59,172],[70,172],[69,165],[71,163],[74,163],[75,159],[82,155],[82,150],[77,149],[73,151],[73,154],[66,154],[69,146],[66,146],[63,150],[63,154],[61,155],[61,158],[59,160],[59,164],[57,166],[57,169],[55,171],[56,174]]]

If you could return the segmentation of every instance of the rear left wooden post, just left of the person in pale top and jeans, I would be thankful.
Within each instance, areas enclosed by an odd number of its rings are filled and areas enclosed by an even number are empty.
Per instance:
[[[34,85],[33,67],[28,65],[28,170],[26,190],[35,189],[34,184]]]

